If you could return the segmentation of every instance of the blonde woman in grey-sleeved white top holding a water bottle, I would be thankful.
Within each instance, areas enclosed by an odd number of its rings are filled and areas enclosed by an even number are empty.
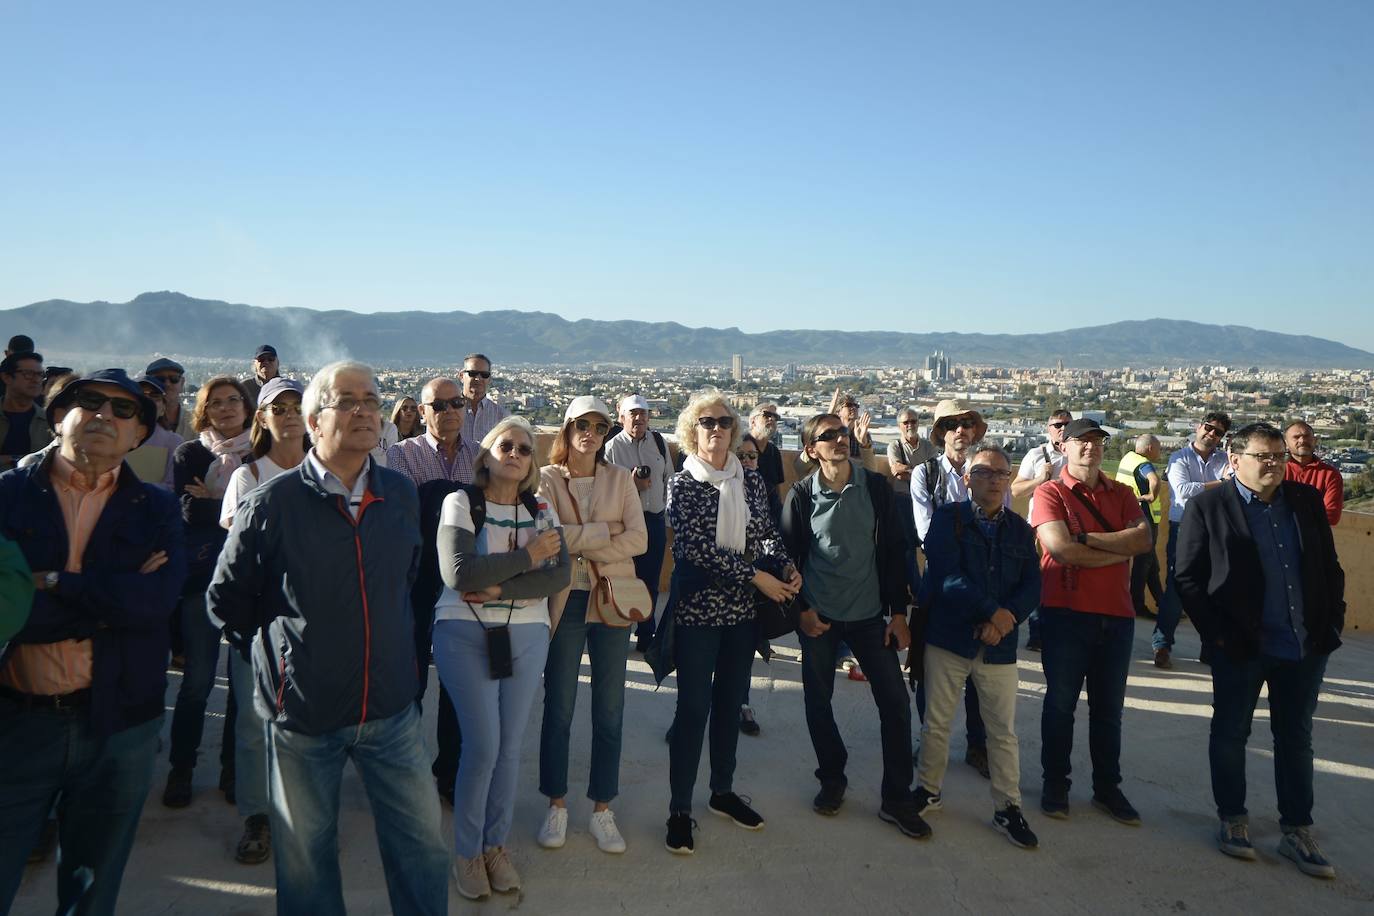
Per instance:
[[[453,878],[469,900],[513,891],[506,851],[519,753],[548,656],[548,597],[567,588],[558,514],[536,494],[534,431],[507,417],[482,438],[473,486],[444,499],[434,667],[463,733]]]

